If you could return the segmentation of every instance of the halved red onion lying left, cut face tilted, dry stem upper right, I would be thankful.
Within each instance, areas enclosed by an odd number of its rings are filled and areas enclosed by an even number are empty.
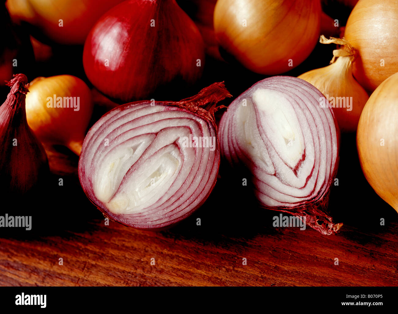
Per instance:
[[[138,101],[107,112],[88,132],[80,184],[109,218],[163,229],[205,202],[220,165],[215,110],[223,83],[178,102]]]

